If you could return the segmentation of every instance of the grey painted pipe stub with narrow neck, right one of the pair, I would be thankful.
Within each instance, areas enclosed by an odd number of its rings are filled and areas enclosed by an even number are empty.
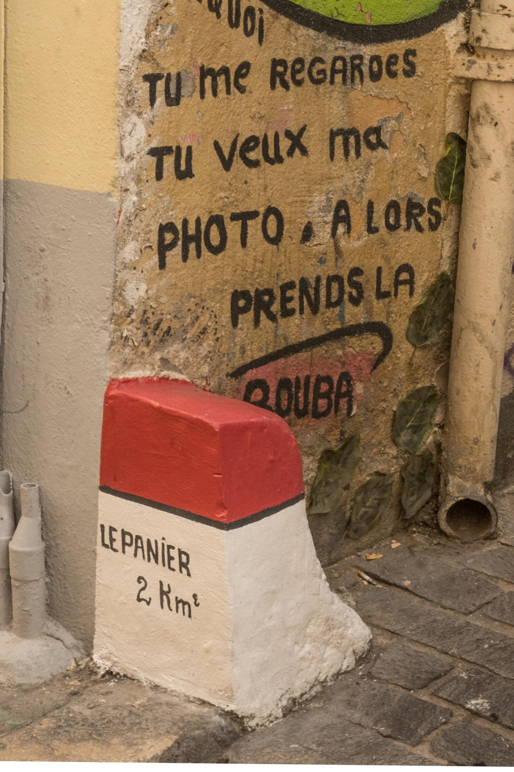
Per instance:
[[[22,516],[9,544],[12,631],[19,638],[42,635],[46,617],[45,544],[41,536],[39,486],[24,482]]]

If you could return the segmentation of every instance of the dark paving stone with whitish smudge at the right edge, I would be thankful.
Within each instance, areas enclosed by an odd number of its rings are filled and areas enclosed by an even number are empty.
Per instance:
[[[514,682],[483,670],[465,670],[435,689],[455,705],[514,729]]]

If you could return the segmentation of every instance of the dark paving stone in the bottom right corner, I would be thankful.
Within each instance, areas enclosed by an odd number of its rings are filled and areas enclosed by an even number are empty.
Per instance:
[[[471,721],[461,721],[438,733],[431,741],[431,751],[459,766],[514,765],[514,743]]]

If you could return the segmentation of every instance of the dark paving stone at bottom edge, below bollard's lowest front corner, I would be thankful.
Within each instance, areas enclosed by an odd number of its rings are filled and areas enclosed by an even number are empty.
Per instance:
[[[394,740],[350,723],[332,701],[314,698],[286,719],[238,738],[211,763],[387,764],[427,766],[434,762]]]

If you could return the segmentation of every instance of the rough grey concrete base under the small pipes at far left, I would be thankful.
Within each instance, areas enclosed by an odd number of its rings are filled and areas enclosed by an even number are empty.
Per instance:
[[[75,639],[57,622],[47,620],[40,638],[19,638],[0,631],[0,683],[40,683],[75,665],[83,657]]]

